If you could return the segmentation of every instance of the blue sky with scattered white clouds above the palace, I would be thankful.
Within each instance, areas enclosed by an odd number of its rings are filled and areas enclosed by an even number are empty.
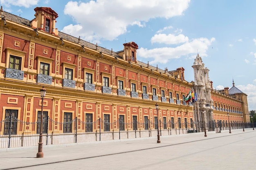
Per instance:
[[[194,81],[197,54],[213,88],[235,86],[256,110],[256,0],[0,0],[3,10],[32,20],[50,7],[58,31],[121,51],[138,44],[137,60]]]

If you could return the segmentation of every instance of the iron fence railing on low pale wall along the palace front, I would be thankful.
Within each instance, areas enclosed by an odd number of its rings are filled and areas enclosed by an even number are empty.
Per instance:
[[[159,132],[161,136],[179,135],[185,133],[200,132],[196,127],[207,131],[220,132],[229,130],[229,124],[209,122],[163,122],[159,120]],[[231,123],[231,129],[253,127],[252,124]],[[203,131],[203,130],[202,130]],[[131,139],[157,136],[157,123],[148,120],[146,123],[139,121],[108,122],[97,119],[94,122],[85,122],[73,119],[68,122],[57,122],[49,117],[43,119],[43,145],[71,144],[94,141]],[[25,122],[13,117],[7,117],[0,121],[0,148],[13,148],[25,146],[37,146],[39,141],[40,122]]]

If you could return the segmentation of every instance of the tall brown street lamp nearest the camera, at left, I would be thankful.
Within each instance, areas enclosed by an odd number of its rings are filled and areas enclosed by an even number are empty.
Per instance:
[[[42,107],[41,107],[41,122],[40,122],[40,135],[39,135],[39,143],[38,143],[38,152],[36,154],[37,158],[43,158],[43,100],[45,97],[46,89],[43,87],[40,89],[40,95],[42,97]]]

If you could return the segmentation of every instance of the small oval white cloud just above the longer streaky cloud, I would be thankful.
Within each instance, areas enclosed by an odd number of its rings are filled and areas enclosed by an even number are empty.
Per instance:
[[[183,34],[173,35],[173,34],[156,34],[151,38],[151,43],[164,43],[164,44],[180,44],[188,42],[189,38]]]

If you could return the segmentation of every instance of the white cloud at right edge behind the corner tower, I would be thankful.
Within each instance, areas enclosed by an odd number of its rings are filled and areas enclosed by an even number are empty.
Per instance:
[[[249,111],[256,110],[256,79],[253,81],[254,84],[238,85],[236,86],[240,91],[247,94],[247,102]]]

